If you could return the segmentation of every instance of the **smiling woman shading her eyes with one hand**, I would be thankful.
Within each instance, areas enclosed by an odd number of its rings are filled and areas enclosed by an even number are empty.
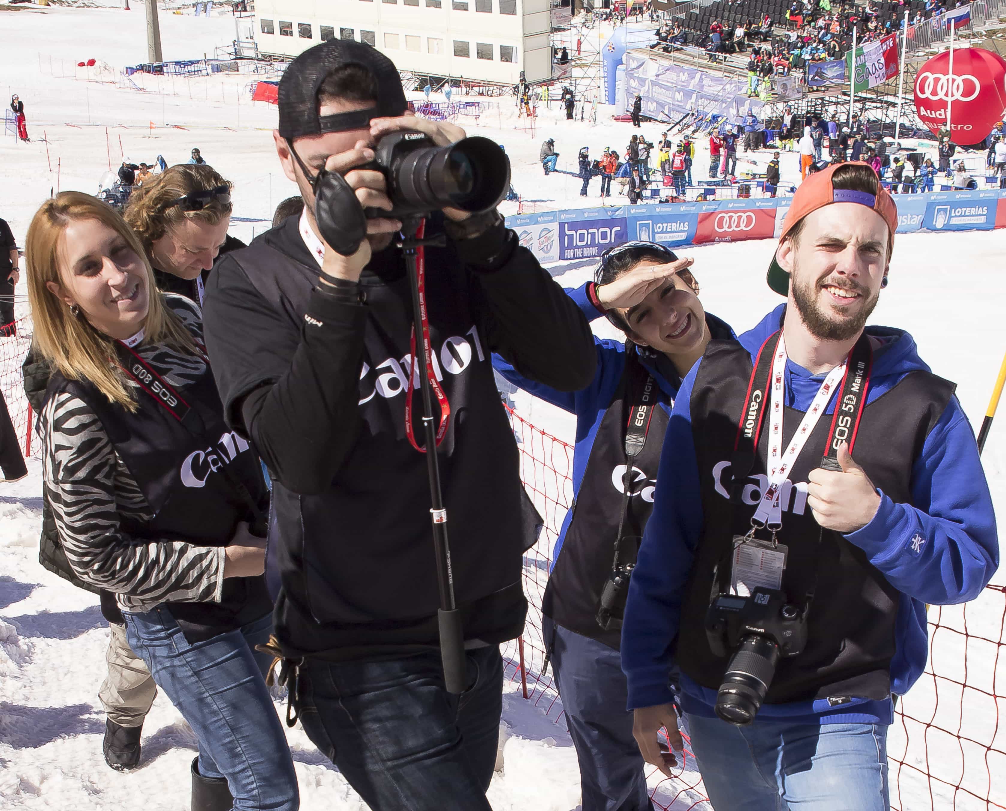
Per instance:
[[[585,388],[536,383],[493,355],[510,382],[576,416],[574,506],[553,553],[542,629],[576,749],[583,811],[653,807],[619,663],[625,589],[681,379],[710,339],[733,337],[703,309],[691,265],[657,242],[626,242],[604,255],[596,281],[567,291],[589,319],[607,317],[625,334],[595,338],[598,369]]]

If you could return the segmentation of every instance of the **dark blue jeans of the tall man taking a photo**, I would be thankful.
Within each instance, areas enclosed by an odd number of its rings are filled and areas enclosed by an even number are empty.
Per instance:
[[[298,707],[308,738],[372,811],[491,811],[503,659],[468,651],[469,688],[444,686],[439,649],[379,661],[308,658]]]

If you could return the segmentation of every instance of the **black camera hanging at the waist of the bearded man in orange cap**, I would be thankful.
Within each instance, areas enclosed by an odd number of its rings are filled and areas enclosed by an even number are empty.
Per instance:
[[[804,651],[807,611],[775,589],[759,588],[749,597],[721,594],[712,601],[705,615],[709,647],[716,656],[730,656],[716,693],[720,718],[738,726],[754,720],[780,658]]]

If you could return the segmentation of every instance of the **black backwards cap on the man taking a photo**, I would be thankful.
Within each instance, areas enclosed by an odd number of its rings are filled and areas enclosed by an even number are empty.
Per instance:
[[[358,64],[377,79],[377,103],[367,110],[318,115],[318,90],[333,67]],[[308,48],[294,59],[280,79],[280,137],[293,141],[305,135],[359,130],[370,119],[404,115],[408,109],[394,63],[372,45],[331,39]]]

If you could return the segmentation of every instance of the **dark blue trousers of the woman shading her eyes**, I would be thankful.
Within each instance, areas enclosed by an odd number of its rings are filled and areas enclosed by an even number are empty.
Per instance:
[[[576,749],[582,811],[651,811],[619,652],[548,617],[541,632],[554,639],[552,669]]]

